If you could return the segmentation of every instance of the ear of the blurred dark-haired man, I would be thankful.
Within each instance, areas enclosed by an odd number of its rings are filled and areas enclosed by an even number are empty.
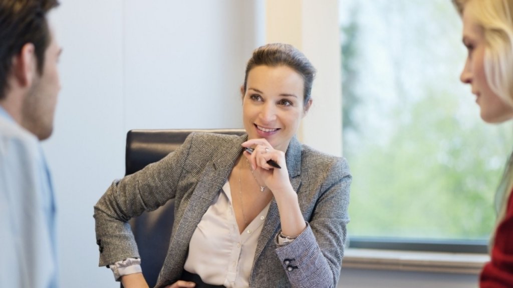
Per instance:
[[[12,73],[20,87],[30,87],[37,67],[35,48],[32,43],[23,45],[22,50],[12,59]]]

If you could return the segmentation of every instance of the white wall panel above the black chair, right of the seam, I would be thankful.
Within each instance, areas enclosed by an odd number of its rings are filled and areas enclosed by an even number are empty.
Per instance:
[[[250,8],[235,0],[126,2],[125,129],[242,127]]]

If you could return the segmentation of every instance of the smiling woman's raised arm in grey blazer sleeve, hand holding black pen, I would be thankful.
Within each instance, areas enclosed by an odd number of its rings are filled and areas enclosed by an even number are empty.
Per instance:
[[[276,253],[292,287],[336,287],[340,276],[346,224],[349,222],[347,207],[351,174],[343,158],[312,153],[302,159],[300,191],[294,191],[285,163],[285,153],[275,150],[265,139],[252,139],[243,147],[254,147],[245,152],[251,168],[272,191],[280,211],[284,236],[294,238],[288,244],[277,244]],[[279,163],[273,168],[268,161]],[[302,163],[303,166],[303,163]],[[306,202],[305,202],[306,201]],[[311,205],[308,222],[303,207]]]

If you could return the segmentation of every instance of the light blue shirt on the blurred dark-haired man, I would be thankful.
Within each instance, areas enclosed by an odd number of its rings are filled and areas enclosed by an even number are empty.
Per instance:
[[[55,201],[43,150],[0,107],[0,287],[57,286]]]

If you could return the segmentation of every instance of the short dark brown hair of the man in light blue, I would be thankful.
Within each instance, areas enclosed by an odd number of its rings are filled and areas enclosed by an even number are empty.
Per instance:
[[[6,97],[12,59],[25,44],[34,45],[37,72],[43,72],[51,42],[46,14],[58,5],[57,0],[0,0],[0,100]]]

